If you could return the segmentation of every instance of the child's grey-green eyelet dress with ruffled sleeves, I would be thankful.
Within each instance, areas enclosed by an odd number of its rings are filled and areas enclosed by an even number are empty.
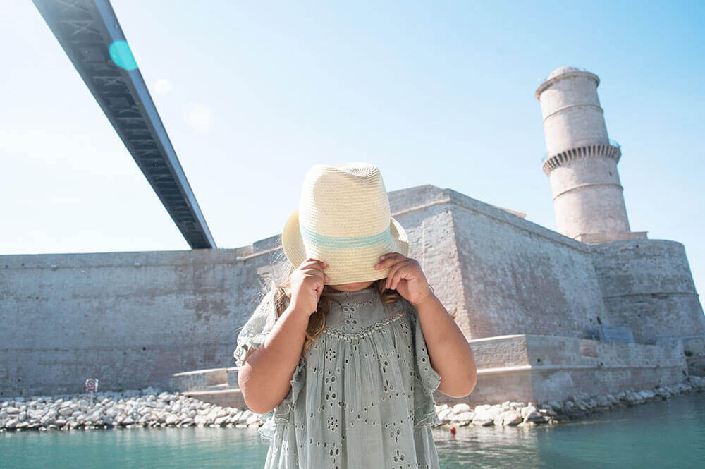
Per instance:
[[[384,305],[376,285],[332,292],[326,329],[300,359],[291,389],[260,417],[269,439],[265,469],[438,469],[431,367],[418,312],[407,300]],[[270,291],[238,335],[242,366],[274,326]]]

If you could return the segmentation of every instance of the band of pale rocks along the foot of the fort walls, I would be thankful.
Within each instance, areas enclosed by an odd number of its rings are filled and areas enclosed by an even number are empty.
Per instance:
[[[436,406],[442,426],[555,425],[591,413],[666,400],[686,392],[705,391],[705,377],[688,377],[674,386],[642,391],[588,396],[578,394],[563,402],[522,403],[506,401],[470,408],[467,404]],[[149,387],[123,392],[4,398],[0,402],[0,433],[22,430],[91,430],[116,427],[259,427],[259,414],[221,407]]]

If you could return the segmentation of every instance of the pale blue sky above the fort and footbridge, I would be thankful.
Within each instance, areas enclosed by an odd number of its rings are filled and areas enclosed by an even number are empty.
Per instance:
[[[632,231],[705,288],[701,2],[114,0],[220,248],[281,232],[317,163],[367,161],[556,229],[534,91],[601,78]],[[30,1],[0,16],[0,253],[188,245]]]

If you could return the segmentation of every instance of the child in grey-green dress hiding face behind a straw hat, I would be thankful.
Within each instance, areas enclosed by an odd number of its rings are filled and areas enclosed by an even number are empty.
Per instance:
[[[265,468],[439,468],[433,393],[470,394],[474,360],[406,257],[378,169],[313,166],[281,243],[286,281],[233,352],[247,406],[264,414]]]

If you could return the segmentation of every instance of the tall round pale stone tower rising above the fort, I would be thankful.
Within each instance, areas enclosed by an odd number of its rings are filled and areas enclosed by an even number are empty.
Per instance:
[[[597,97],[600,79],[575,67],[556,68],[539,85],[558,231],[584,243],[646,238],[630,232],[617,163]]]

